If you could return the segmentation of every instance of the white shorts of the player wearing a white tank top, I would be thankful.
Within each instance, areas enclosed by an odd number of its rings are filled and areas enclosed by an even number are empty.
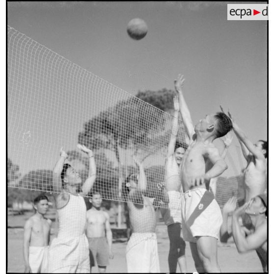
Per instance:
[[[53,240],[49,251],[49,273],[90,273],[89,247],[85,234]]]

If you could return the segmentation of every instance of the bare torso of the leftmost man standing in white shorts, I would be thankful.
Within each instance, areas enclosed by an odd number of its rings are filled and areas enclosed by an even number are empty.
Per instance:
[[[31,235],[30,247],[46,247],[49,245],[51,220],[39,218],[36,215],[30,217]]]

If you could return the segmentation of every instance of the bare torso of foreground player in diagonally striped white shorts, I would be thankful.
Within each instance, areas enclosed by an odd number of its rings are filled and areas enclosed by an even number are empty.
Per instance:
[[[212,168],[212,163],[206,157],[208,147],[214,147],[214,145],[193,141],[186,150],[180,172],[184,192],[195,188],[206,188],[209,190],[209,181],[200,186],[191,185],[193,177],[202,176]]]

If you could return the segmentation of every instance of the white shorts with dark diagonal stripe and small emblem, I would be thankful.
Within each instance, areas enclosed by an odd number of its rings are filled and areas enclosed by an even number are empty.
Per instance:
[[[222,215],[214,195],[206,189],[187,191],[182,196],[182,231],[187,242],[195,237],[210,236],[219,239]]]

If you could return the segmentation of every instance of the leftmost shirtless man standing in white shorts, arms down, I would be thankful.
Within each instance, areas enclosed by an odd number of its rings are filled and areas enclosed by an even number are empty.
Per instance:
[[[39,195],[33,201],[35,214],[24,227],[25,273],[47,273],[50,231],[52,221],[44,216],[49,208],[49,200]]]

